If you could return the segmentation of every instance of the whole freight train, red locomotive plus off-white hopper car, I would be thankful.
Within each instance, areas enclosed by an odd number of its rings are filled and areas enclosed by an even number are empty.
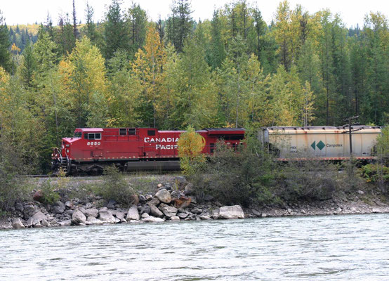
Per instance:
[[[121,170],[179,169],[178,139],[184,131],[156,128],[77,128],[53,148],[53,171],[67,174],[101,173],[115,164]],[[237,149],[244,144],[244,128],[208,128],[197,131],[204,141],[202,152],[212,155],[218,141]],[[264,148],[277,161],[376,159],[379,126],[272,126],[258,131]],[[350,141],[351,138],[351,141]],[[351,149],[350,149],[351,148]]]

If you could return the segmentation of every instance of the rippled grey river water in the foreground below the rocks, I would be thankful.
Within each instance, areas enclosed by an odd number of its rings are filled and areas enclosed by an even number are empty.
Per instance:
[[[389,214],[3,230],[0,280],[389,280]]]

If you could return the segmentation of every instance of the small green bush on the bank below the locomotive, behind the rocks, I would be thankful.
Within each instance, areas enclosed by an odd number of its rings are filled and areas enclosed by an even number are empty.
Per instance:
[[[105,169],[103,184],[100,186],[98,193],[105,200],[115,200],[124,207],[128,207],[135,202],[135,191],[115,166],[109,166]]]

